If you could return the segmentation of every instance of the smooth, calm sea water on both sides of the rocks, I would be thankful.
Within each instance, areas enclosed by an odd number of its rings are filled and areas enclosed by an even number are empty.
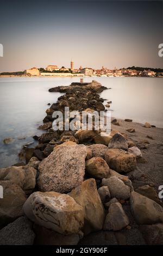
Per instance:
[[[131,118],[139,123],[148,121],[163,127],[162,78],[95,77],[95,80],[112,88],[101,96],[112,101],[113,117]],[[60,93],[49,93],[48,89],[76,81],[80,78],[0,78],[0,167],[18,162],[17,154],[22,146],[33,142],[32,136],[41,134],[37,127],[46,115],[47,103],[56,102],[60,96]],[[15,141],[5,145],[3,139],[7,137]],[[22,137],[26,139],[18,139]]]

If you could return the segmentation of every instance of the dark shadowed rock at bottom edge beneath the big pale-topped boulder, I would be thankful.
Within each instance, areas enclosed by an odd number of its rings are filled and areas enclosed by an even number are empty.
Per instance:
[[[77,245],[83,237],[80,234],[62,235],[36,224],[34,224],[34,232],[36,234],[35,245]]]

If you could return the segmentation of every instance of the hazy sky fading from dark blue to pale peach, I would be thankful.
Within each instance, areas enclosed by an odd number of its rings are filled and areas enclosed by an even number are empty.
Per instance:
[[[0,72],[36,66],[163,68],[162,1],[0,3]]]

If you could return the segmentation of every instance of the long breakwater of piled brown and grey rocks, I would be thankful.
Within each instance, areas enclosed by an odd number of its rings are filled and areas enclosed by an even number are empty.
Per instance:
[[[64,95],[46,110],[39,127],[45,133],[34,136],[35,148],[22,149],[26,164],[0,169],[1,245],[163,244],[161,202],[138,167],[145,141],[135,145],[114,129],[104,136],[52,129],[53,112],[65,107],[104,111],[104,89],[96,81],[49,89]]]

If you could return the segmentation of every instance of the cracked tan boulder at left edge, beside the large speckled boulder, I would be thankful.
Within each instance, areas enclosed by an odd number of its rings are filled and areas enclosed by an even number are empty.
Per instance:
[[[0,180],[10,180],[30,193],[36,185],[36,169],[30,166],[11,166],[0,169]]]

